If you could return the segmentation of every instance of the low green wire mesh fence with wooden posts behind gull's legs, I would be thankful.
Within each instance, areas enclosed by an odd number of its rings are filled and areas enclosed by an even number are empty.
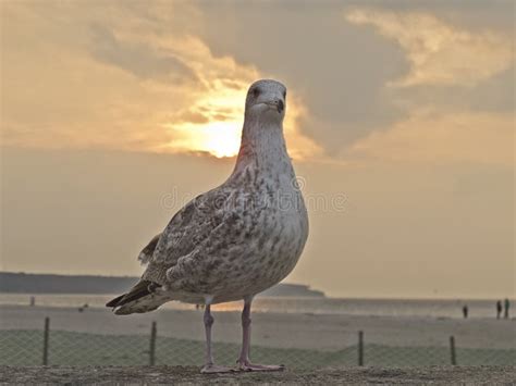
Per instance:
[[[156,322],[149,335],[102,335],[52,331],[47,317],[42,329],[0,331],[0,365],[199,365],[204,341],[159,336]],[[316,369],[342,365],[514,365],[516,349],[462,348],[455,338],[438,347],[395,347],[367,341],[357,332],[357,344],[336,351],[253,346],[255,362],[287,368]],[[216,360],[233,364],[238,345],[216,343]]]

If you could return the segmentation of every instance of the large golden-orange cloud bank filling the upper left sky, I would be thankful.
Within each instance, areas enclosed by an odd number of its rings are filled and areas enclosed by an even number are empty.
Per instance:
[[[188,153],[238,146],[245,92],[265,75],[214,55],[192,34],[198,14],[189,4],[84,4],[2,5],[3,145]],[[290,95],[291,152],[306,155],[318,146],[297,129],[303,100]]]

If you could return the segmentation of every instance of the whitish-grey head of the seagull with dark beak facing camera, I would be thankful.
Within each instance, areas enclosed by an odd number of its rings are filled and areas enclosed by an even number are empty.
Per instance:
[[[261,79],[250,85],[245,102],[245,115],[260,121],[282,122],[285,116],[286,88],[280,82]]]

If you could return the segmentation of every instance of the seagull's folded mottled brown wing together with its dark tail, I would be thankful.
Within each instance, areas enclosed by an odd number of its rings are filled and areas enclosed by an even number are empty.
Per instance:
[[[138,260],[147,269],[138,283],[107,306],[120,308],[115,312],[121,314],[147,312],[165,300],[155,296],[163,285],[194,292],[209,287],[217,279],[210,281],[210,276],[221,264],[225,240],[231,241],[234,234],[236,211],[230,204],[232,194],[234,190],[220,187],[183,207],[139,253]]]

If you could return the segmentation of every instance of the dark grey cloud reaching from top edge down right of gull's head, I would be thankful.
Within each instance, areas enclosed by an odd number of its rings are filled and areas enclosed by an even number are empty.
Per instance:
[[[404,52],[343,23],[339,2],[196,4],[204,20],[199,36],[212,52],[251,63],[295,89],[306,109],[299,129],[327,153],[403,116],[384,85],[407,70]]]

